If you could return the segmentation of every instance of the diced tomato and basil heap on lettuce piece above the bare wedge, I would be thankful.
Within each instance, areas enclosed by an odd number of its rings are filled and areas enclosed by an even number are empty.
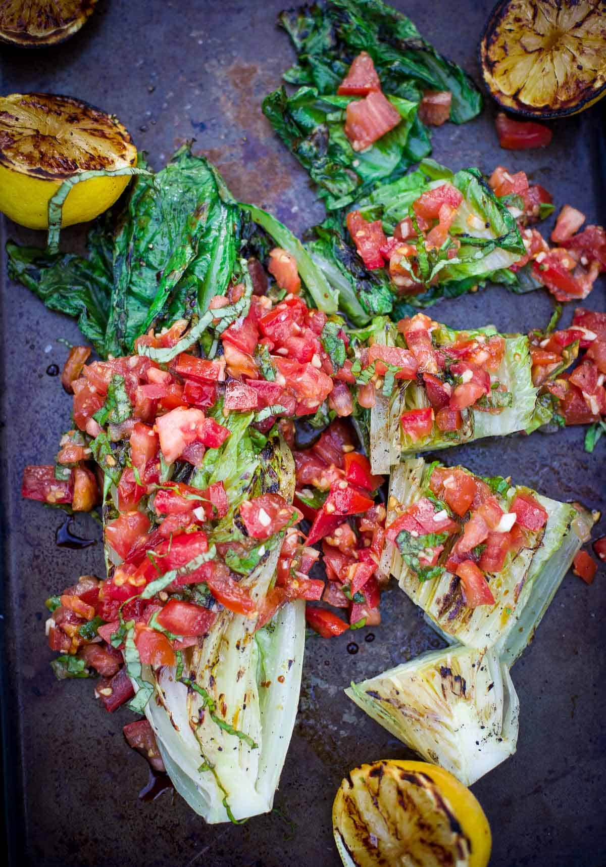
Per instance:
[[[420,499],[390,498],[388,542],[420,581],[459,577],[468,608],[493,605],[491,583],[520,549],[542,538],[548,514],[534,493],[500,476],[481,479],[459,466],[430,467]]]

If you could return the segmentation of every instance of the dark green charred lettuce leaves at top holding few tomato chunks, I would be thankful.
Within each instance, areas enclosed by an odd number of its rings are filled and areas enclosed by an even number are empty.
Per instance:
[[[291,97],[284,88],[274,91],[264,101],[264,114],[329,209],[349,204],[354,194],[364,194],[381,179],[400,177],[431,152],[427,127],[417,117],[424,90],[452,93],[454,123],[469,121],[481,110],[481,96],[468,75],[438,54],[407,16],[381,0],[327,0],[283,11],[278,21],[297,53],[284,81],[300,89]],[[342,130],[350,98],[336,91],[361,51],[373,58],[383,92],[403,121],[373,147],[355,153]]]

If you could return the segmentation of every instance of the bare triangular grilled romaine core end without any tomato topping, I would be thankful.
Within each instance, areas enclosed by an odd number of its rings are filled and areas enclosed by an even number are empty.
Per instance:
[[[518,695],[493,650],[433,650],[352,683],[345,694],[465,786],[516,751]]]

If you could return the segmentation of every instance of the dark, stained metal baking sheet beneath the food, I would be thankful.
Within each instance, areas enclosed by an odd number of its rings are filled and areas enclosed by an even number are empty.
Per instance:
[[[260,111],[263,95],[277,86],[292,59],[287,37],[274,26],[282,5],[282,0],[106,0],[59,48],[2,49],[0,92],[67,93],[112,111],[138,146],[147,148],[156,168],[181,141],[195,136],[196,147],[216,162],[238,197],[269,207],[300,231],[323,211],[303,170]],[[492,3],[400,0],[394,5],[479,80],[476,44]],[[598,104],[554,124],[554,140],[545,151],[505,153],[498,149],[495,109],[489,104],[479,120],[438,130],[433,156],[455,169],[471,165],[490,171],[499,162],[514,171],[523,168],[553,192],[558,207],[570,201],[590,222],[603,222],[603,111]],[[13,225],[5,224],[3,231],[3,240],[7,234],[33,237]],[[66,232],[63,244],[78,238],[78,231]],[[62,515],[19,497],[24,464],[52,460],[66,427],[68,398],[45,371],[65,359],[57,338],[77,342],[78,332],[22,287],[8,284],[4,264],[0,282],[3,707],[15,863],[336,867],[330,808],[343,774],[363,761],[409,754],[349,702],[342,688],[439,646],[439,640],[397,588],[384,597],[381,627],[355,634],[356,655],[346,651],[351,636],[310,639],[296,731],[276,797],[279,812],[243,826],[209,827],[169,793],[150,804],[138,801],[147,766],[122,740],[121,728],[131,715],[107,714],[94,702],[89,681],[57,683],[44,638],[44,598],[81,574],[102,575],[101,546],[57,549],[55,528]],[[587,306],[606,306],[603,278]],[[493,288],[440,303],[434,312],[458,327],[492,322],[499,329],[525,331],[546,323],[551,303],[544,293],[516,297]],[[565,311],[564,324],[571,315]],[[481,473],[512,473],[548,496],[599,508],[604,444],[589,455],[582,441],[582,429],[570,428],[551,437],[461,447],[444,457]],[[98,534],[92,522],[76,524],[82,536]],[[606,864],[605,578],[602,569],[588,588],[577,577],[566,577],[531,648],[513,669],[521,702],[518,752],[473,786],[492,825],[492,867]],[[375,641],[366,642],[371,631]]]

